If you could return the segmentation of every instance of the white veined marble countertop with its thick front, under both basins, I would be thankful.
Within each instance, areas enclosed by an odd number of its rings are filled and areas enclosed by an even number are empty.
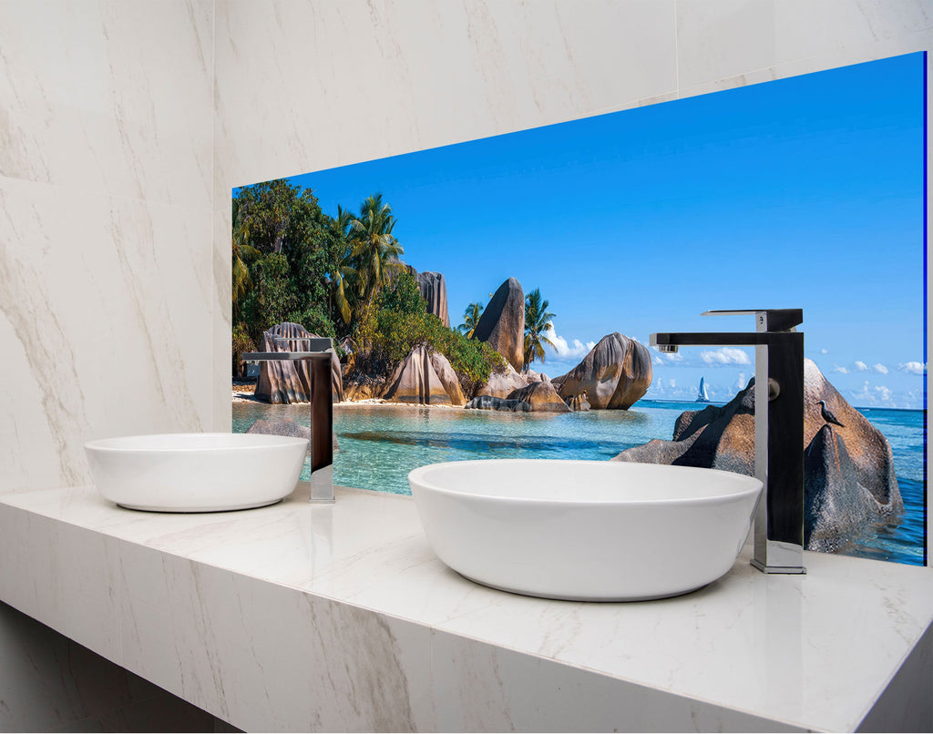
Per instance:
[[[5,602],[247,729],[854,730],[879,699],[876,719],[923,727],[933,569],[806,565],[556,602],[447,569],[408,497],[201,515],[0,497]]]

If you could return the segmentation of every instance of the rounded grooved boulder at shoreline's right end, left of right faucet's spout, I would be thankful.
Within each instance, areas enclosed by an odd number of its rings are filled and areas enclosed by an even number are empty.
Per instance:
[[[629,409],[651,385],[651,353],[618,331],[606,334],[583,361],[555,380],[564,400],[587,394],[595,409]]]

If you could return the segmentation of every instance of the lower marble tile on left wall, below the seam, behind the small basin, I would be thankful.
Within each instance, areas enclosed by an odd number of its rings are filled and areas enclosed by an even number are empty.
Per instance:
[[[86,483],[91,438],[210,424],[210,218],[0,178],[0,491]]]

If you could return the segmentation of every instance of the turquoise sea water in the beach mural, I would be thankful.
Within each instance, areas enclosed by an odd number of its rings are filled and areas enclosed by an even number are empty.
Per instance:
[[[641,400],[630,410],[560,415],[342,404],[334,407],[341,447],[334,455],[334,482],[409,494],[409,472],[425,464],[480,458],[607,460],[652,438],[669,439],[677,416],[694,409],[695,403],[653,400]],[[861,412],[891,443],[904,513],[867,528],[839,552],[923,565],[924,413]],[[292,418],[307,425],[309,409],[307,404],[233,404],[234,432],[244,432],[258,418]]]

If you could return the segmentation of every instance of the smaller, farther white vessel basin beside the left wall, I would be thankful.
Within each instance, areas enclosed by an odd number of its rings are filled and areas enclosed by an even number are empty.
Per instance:
[[[295,489],[308,439],[261,434],[162,434],[84,446],[97,489],[118,505],[160,512],[261,507]]]

